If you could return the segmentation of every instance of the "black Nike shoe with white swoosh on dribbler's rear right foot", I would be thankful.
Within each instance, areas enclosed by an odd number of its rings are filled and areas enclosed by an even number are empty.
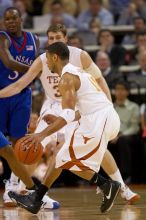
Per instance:
[[[103,200],[100,207],[101,212],[107,212],[112,208],[120,188],[121,184],[113,180],[107,181],[105,184],[100,186],[103,193]]]

